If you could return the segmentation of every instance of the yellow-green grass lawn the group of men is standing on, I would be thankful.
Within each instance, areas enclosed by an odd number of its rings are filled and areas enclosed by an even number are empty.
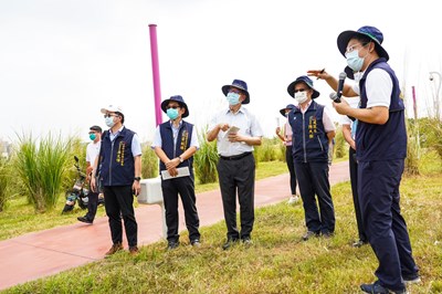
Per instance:
[[[422,161],[430,162],[428,174],[406,177],[401,186],[402,213],[422,275],[422,283],[409,290],[441,293],[442,165],[436,158]],[[277,168],[286,172],[281,164]],[[260,164],[265,172],[272,168],[272,162]],[[359,293],[360,283],[375,280],[377,260],[369,245],[351,246],[357,229],[349,183],[334,186],[332,193],[336,209],[336,235],[332,239],[299,241],[305,232],[302,206],[281,202],[256,210],[251,248],[238,244],[223,251],[225,225],[221,221],[201,229],[200,249],[181,245],[167,252],[161,241],[143,246],[136,258],[120,252],[4,293]],[[38,217],[39,222],[49,219]],[[69,218],[71,223],[75,221],[74,214]],[[53,222],[59,220],[65,219]],[[4,220],[0,221],[3,228]],[[186,240],[186,233],[182,237]]]

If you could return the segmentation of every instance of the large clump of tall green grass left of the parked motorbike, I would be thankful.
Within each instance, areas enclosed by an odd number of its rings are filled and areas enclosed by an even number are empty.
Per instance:
[[[71,139],[49,134],[38,143],[32,135],[19,137],[14,168],[23,181],[29,201],[43,212],[55,207],[63,189],[71,155]]]

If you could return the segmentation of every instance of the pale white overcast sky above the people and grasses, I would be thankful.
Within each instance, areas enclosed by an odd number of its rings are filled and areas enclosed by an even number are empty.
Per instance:
[[[202,128],[227,106],[221,86],[249,84],[266,136],[293,99],[287,85],[309,69],[336,76],[344,30],[369,24],[385,34],[390,64],[420,116],[441,72],[441,18],[435,1],[0,0],[0,138],[51,133],[87,140],[104,127],[99,108],[118,104],[143,140],[155,129],[149,23],[156,23],[162,98],[180,94],[188,120]],[[319,103],[330,88],[315,81]],[[411,107],[409,107],[411,111]],[[164,118],[166,119],[166,117]],[[336,116],[336,120],[338,120]]]

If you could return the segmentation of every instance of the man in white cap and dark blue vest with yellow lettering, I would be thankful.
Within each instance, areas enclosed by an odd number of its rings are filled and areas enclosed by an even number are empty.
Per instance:
[[[122,217],[129,252],[136,255],[138,254],[138,224],[135,219],[134,195],[137,196],[140,190],[141,145],[137,134],[123,125],[125,117],[120,107],[109,105],[102,108],[102,113],[109,129],[103,134],[91,186],[95,190],[95,175],[99,161],[99,177],[113,241],[106,255],[123,250]]]

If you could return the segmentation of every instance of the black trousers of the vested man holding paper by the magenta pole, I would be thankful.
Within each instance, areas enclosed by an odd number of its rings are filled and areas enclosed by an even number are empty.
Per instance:
[[[193,177],[180,177],[161,181],[162,199],[166,208],[167,241],[178,242],[178,195],[185,209],[186,227],[190,242],[200,239],[200,219],[197,211]]]

